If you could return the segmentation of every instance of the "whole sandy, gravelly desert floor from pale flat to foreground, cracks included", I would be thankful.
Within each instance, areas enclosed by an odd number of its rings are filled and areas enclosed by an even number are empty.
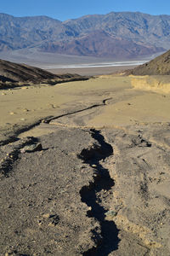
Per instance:
[[[0,91],[0,255],[170,254],[170,94],[132,81]]]

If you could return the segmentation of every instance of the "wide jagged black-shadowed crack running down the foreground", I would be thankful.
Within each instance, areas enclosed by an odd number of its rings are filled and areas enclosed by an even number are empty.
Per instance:
[[[111,178],[109,170],[105,169],[100,163],[101,160],[105,161],[107,157],[113,154],[113,148],[111,144],[105,142],[105,137],[103,137],[99,131],[92,129],[91,133],[92,137],[94,137],[99,145],[94,144],[93,148],[83,149],[79,157],[89,166],[95,166],[97,175],[94,177],[94,183],[82,187],[80,195],[82,202],[85,202],[88,207],[91,207],[91,210],[87,212],[88,217],[96,218],[99,221],[102,241],[99,240],[99,237],[95,236],[95,230],[92,230],[97,245],[87,252],[82,253],[82,255],[107,256],[118,248],[120,240],[114,221],[105,220],[105,212],[107,212],[108,209],[102,206],[102,201],[99,201],[97,193],[102,191],[102,189],[109,191],[114,186],[114,180]]]

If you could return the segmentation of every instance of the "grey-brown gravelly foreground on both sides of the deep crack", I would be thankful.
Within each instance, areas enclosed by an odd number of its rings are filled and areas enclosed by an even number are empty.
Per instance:
[[[64,124],[3,145],[2,255],[168,256],[169,127]]]

